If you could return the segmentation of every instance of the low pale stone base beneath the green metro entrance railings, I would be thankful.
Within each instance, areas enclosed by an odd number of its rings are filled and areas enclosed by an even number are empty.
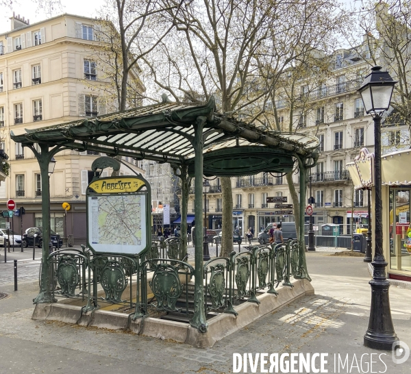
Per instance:
[[[199,332],[187,323],[164,319],[147,317],[129,321],[128,314],[107,310],[95,310],[81,315],[81,306],[68,303],[38,303],[32,319],[61,321],[106,329],[125,329],[144,336],[174,340],[198,348],[208,348],[265,314],[278,310],[299,297],[314,295],[314,288],[306,279],[294,279],[292,285],[292,288],[286,286],[277,288],[277,296],[268,293],[258,295],[257,299],[260,304],[246,302],[234,307],[238,316],[221,313],[209,319],[206,333]]]

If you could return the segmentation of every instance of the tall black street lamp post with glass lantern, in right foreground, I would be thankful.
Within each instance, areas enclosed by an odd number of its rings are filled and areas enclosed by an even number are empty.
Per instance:
[[[367,114],[373,116],[375,137],[375,253],[373,264],[373,279],[371,285],[371,310],[369,327],[364,335],[364,345],[374,349],[390,350],[397,342],[391,317],[388,288],[390,283],[386,279],[387,262],[382,248],[382,177],[381,177],[381,119],[382,113],[390,107],[394,86],[393,80],[381,66],[371,68],[358,89],[361,94]]]

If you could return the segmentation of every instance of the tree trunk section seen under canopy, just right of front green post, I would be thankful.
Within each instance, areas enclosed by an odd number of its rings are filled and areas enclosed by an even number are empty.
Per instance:
[[[229,177],[221,178],[221,192],[223,197],[223,225],[221,227],[223,234],[221,238],[221,257],[229,257],[233,251],[233,195],[231,179]]]

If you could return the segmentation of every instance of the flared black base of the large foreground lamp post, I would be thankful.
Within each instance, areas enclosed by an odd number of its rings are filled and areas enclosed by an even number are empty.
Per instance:
[[[390,282],[385,278],[386,262],[372,262],[374,266],[371,285],[371,310],[369,327],[364,335],[364,345],[373,349],[390,351],[393,344],[399,339],[395,334],[393,319],[391,318],[390,298],[388,288]]]

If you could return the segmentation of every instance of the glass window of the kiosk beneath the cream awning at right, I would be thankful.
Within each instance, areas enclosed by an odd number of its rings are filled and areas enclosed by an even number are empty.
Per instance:
[[[411,271],[410,190],[390,188],[390,269],[398,271]]]

